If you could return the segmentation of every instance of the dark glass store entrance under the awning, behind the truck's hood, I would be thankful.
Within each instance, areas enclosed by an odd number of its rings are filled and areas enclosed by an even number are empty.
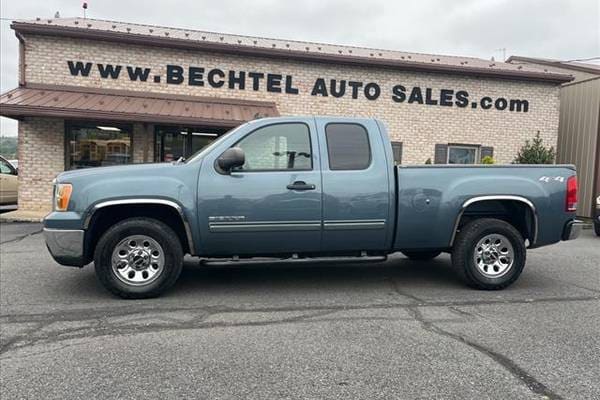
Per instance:
[[[156,126],[154,128],[154,143],[156,143],[154,161],[177,161],[181,157],[189,158],[225,132],[227,129],[222,128]]]

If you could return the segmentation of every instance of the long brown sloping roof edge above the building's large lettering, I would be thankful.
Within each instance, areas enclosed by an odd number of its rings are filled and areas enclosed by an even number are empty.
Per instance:
[[[557,73],[535,71],[506,71],[501,69],[487,69],[481,67],[464,67],[446,64],[428,64],[418,61],[393,60],[389,58],[368,58],[364,56],[348,56],[345,54],[311,53],[300,50],[252,47],[229,43],[198,42],[175,37],[157,37],[136,33],[100,31],[82,29],[59,25],[40,25],[32,22],[13,22],[11,28],[19,33],[30,33],[51,36],[76,37],[91,40],[111,41],[144,46],[157,46],[168,48],[182,48],[192,50],[205,50],[216,53],[243,54],[276,59],[296,59],[307,62],[327,64],[344,64],[358,66],[377,66],[408,71],[426,71],[435,73],[448,73],[457,75],[488,76],[499,79],[529,80],[550,83],[565,83],[573,78]]]

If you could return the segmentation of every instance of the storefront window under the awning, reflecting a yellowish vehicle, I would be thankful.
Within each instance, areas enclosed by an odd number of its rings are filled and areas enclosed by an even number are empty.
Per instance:
[[[128,164],[131,159],[129,125],[68,123],[68,169]]]

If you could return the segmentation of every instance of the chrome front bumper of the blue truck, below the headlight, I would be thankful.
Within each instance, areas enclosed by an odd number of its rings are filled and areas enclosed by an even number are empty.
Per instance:
[[[50,254],[57,263],[72,267],[85,265],[83,239],[85,231],[44,228],[44,238]]]

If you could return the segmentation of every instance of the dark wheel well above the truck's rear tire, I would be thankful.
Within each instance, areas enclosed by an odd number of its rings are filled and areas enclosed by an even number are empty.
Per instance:
[[[456,224],[456,231],[479,218],[496,218],[508,222],[533,244],[537,235],[537,216],[527,203],[519,200],[481,200],[469,204]]]

